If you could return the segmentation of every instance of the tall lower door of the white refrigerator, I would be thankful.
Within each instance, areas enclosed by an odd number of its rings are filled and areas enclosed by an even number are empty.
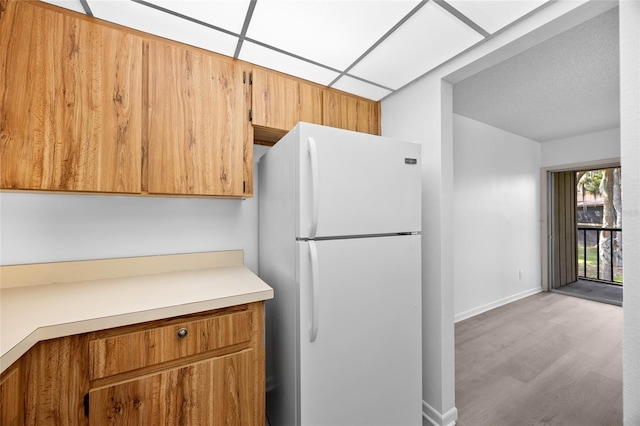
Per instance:
[[[420,239],[298,243],[301,425],[422,425]]]

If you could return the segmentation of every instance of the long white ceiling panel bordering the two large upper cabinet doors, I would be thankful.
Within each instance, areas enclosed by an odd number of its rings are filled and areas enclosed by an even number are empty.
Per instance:
[[[87,0],[93,15],[118,25],[233,56],[238,38],[169,13],[124,0]]]

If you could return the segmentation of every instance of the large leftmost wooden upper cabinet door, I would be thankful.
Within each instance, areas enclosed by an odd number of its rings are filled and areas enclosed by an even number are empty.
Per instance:
[[[140,192],[141,38],[38,3],[0,3],[0,188]]]

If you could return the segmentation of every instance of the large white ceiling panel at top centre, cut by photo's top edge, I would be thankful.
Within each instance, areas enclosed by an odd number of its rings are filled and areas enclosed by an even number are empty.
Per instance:
[[[260,0],[247,37],[342,70],[418,3],[418,0]]]

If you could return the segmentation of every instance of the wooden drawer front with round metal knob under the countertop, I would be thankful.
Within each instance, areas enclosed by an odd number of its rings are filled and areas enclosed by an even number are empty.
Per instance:
[[[95,380],[249,342],[251,314],[252,311],[233,312],[92,340],[90,378]]]

